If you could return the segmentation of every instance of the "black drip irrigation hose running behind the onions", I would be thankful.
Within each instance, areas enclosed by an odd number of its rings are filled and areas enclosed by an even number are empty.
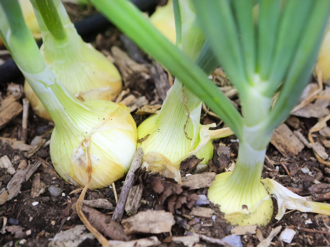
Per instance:
[[[132,0],[141,11],[152,11],[157,6],[159,0]],[[103,15],[95,14],[87,17],[86,19],[74,23],[77,32],[80,36],[84,37],[105,30],[111,26],[112,23],[108,21]],[[42,41],[37,42],[38,46],[42,45]],[[7,59],[0,65],[0,84],[11,82],[20,77],[22,73],[16,66],[13,58]]]

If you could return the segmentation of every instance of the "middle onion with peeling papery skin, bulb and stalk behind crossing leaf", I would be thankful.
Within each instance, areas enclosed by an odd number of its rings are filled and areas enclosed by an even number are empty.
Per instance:
[[[203,59],[209,54],[192,1],[174,3],[178,26],[176,45],[203,67],[206,73],[212,73],[217,61],[210,63]],[[213,157],[211,138],[225,137],[231,135],[232,131],[229,128],[210,131],[209,127],[214,125],[201,125],[201,108],[202,101],[176,78],[159,113],[147,118],[138,127],[138,139],[144,139],[141,146],[149,170],[162,170],[180,182],[179,168],[183,159],[194,154],[203,158],[201,164],[207,166]]]

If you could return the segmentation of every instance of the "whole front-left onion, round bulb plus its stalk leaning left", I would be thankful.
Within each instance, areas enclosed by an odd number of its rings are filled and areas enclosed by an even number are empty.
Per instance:
[[[55,123],[49,145],[58,174],[80,186],[86,184],[86,174],[91,174],[91,189],[108,186],[123,177],[137,143],[136,124],[128,108],[104,100],[80,102],[74,97],[45,63],[17,0],[0,2],[0,33]]]

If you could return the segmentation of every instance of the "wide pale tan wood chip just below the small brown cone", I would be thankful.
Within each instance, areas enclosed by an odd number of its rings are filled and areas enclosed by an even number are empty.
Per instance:
[[[171,232],[175,224],[172,213],[164,210],[140,211],[136,215],[121,221],[126,234]]]

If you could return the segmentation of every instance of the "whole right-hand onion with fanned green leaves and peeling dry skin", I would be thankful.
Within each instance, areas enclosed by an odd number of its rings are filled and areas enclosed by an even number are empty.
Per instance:
[[[286,195],[285,187],[276,181],[268,184],[270,179],[260,180],[272,132],[297,104],[309,81],[330,1],[260,0],[257,18],[252,14],[254,0],[193,1],[213,55],[239,92],[242,115],[208,79],[208,74],[157,32],[128,1],[91,2],[166,66],[238,137],[234,171],[216,175],[208,193],[226,219],[232,224],[266,225],[273,214],[271,196],[284,202],[279,205],[281,212],[298,209],[330,214],[326,210],[330,209],[329,204],[294,198]],[[272,97],[277,93],[273,103]],[[298,206],[299,203],[305,206]],[[281,216],[278,214],[277,218]]]

